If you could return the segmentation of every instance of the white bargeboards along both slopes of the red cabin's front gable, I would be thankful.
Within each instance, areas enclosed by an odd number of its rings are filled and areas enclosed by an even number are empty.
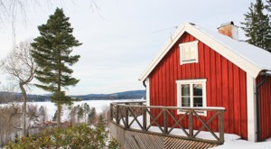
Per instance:
[[[218,42],[216,39],[213,39],[207,33],[200,31],[192,24],[183,23],[178,27],[178,30],[173,34],[173,37],[168,42],[166,42],[162,50],[155,57],[154,61],[152,61],[149,67],[147,67],[147,69],[141,74],[139,80],[144,81],[147,78],[147,76],[151,73],[152,70],[154,70],[159,61],[161,61],[164,58],[164,55],[171,50],[173,44],[179,40],[184,32],[192,34],[192,36],[194,36],[196,39],[208,45],[212,50],[219,52],[220,55],[237,65],[242,70],[245,70],[254,78],[256,78],[258,73],[262,70],[253,63],[247,61],[236,52],[231,51],[228,47]]]

